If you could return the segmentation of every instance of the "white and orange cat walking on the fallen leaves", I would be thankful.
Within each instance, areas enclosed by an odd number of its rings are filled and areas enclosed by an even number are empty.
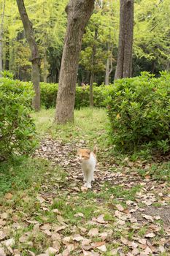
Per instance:
[[[84,187],[91,188],[91,181],[94,181],[94,170],[96,167],[96,152],[97,147],[93,148],[93,151],[89,149],[78,148],[77,156],[82,167],[83,176],[84,176]]]

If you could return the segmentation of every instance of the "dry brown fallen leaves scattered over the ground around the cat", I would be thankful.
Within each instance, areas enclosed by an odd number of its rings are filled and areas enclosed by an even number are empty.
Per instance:
[[[47,214],[28,214],[20,217],[15,207],[13,218],[8,213],[9,208],[0,210],[0,255],[22,255],[25,250],[28,255],[160,255],[170,253],[170,190],[168,184],[152,180],[150,176],[144,179],[136,172],[140,162],[125,160],[124,166],[110,162],[98,162],[93,183],[94,196],[91,200],[98,208],[90,217],[84,211],[74,212],[74,222],[63,214],[62,206],[51,208],[54,201],[66,193],[66,205],[69,198],[74,200],[74,206],[80,204],[80,196],[88,197],[89,189],[82,187],[82,171],[76,161],[76,148],[85,146],[85,141],[63,143],[51,138],[42,140],[34,157],[47,159],[51,162],[54,173],[46,173],[45,183],[42,184],[36,200],[42,212],[52,212],[55,219],[49,219]],[[60,166],[66,176],[58,176],[55,167]],[[112,171],[113,168],[115,171]],[[104,186],[109,184],[109,198],[99,198]],[[141,186],[134,198],[125,199],[124,195],[117,196],[112,192],[115,186],[122,187],[127,192],[135,186]],[[109,187],[105,189],[109,190]],[[86,196],[87,194],[87,196]],[[64,194],[65,195],[65,194]],[[4,200],[11,202],[12,192],[4,195]],[[29,201],[25,198],[25,202]],[[77,203],[79,202],[79,203]],[[88,202],[89,203],[89,202]],[[159,207],[155,207],[158,203]],[[82,200],[82,209],[84,207]],[[17,214],[15,214],[15,211]],[[21,210],[22,211],[22,210]],[[109,216],[109,217],[108,217]],[[22,233],[30,225],[32,230]],[[20,237],[15,241],[14,234],[20,230]],[[42,235],[43,234],[43,235]],[[130,236],[131,234],[131,236]],[[40,246],[39,254],[34,253],[36,236],[43,236],[45,243]],[[31,239],[33,242],[31,242]],[[97,240],[96,240],[97,239]],[[31,242],[31,243],[28,243]],[[47,246],[47,244],[48,246]],[[23,244],[23,245],[22,245]],[[128,251],[127,251],[128,248]]]

